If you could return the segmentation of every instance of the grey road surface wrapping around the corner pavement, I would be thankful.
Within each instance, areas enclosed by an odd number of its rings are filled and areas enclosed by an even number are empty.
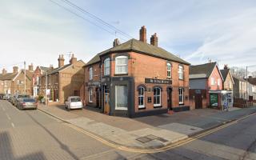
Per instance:
[[[256,116],[182,146],[140,154],[106,146],[40,110],[0,100],[0,159],[256,159]]]

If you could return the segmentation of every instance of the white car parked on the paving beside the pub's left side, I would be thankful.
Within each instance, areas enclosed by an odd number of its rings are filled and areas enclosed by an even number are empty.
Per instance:
[[[70,96],[67,98],[65,102],[66,110],[73,110],[73,109],[81,109],[82,110],[82,100],[78,96]]]

